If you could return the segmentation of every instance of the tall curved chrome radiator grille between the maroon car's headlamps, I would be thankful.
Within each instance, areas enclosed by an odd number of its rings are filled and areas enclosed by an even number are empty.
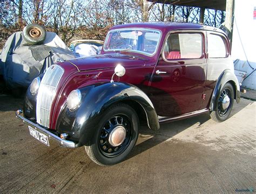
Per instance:
[[[55,98],[56,90],[64,69],[56,64],[50,66],[41,81],[37,94],[36,120],[37,123],[49,127],[52,100]]]

